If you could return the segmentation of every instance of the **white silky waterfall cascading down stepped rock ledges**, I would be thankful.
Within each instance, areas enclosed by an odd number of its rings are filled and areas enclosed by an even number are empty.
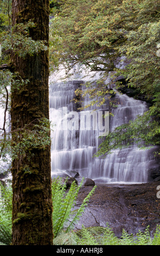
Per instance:
[[[95,182],[147,182],[148,165],[152,161],[150,150],[140,150],[133,145],[114,150],[105,159],[93,158],[98,150],[99,130],[102,131],[104,126],[101,124],[100,129],[95,129],[93,120],[91,125],[86,117],[86,126],[80,129],[81,115],[87,114],[87,111],[93,113],[92,109],[77,112],[72,101],[74,91],[81,83],[84,81],[80,81],[79,77],[72,81],[50,83],[50,120],[56,124],[52,133],[52,175],[79,172],[81,176]],[[135,119],[148,109],[146,102],[125,94],[116,94],[116,98],[119,104],[113,110],[114,117],[110,118],[110,130]],[[107,106],[103,107],[97,113],[108,111]]]

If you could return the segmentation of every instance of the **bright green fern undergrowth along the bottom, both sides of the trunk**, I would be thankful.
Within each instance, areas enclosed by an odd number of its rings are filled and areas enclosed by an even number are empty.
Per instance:
[[[74,224],[79,221],[80,216],[87,206],[89,198],[95,191],[95,187],[88,193],[80,208],[75,209],[76,199],[82,182],[79,186],[72,183],[66,190],[66,183],[62,184],[60,178],[52,182],[53,199],[53,231],[54,245],[160,245],[160,225],[157,225],[155,234],[150,236],[149,227],[139,231],[136,235],[128,234],[123,230],[121,237],[114,235],[112,228],[107,223],[106,227],[85,228],[73,230]],[[11,244],[11,212],[12,191],[11,186],[3,187],[0,197],[0,245]]]

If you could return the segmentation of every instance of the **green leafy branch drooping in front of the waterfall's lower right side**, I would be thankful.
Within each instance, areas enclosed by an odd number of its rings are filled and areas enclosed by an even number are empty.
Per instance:
[[[151,109],[139,115],[136,120],[129,121],[128,124],[121,125],[109,133],[99,145],[95,156],[105,156],[114,149],[121,149],[132,143],[137,143],[140,149],[159,145],[159,123],[157,120],[151,121]]]

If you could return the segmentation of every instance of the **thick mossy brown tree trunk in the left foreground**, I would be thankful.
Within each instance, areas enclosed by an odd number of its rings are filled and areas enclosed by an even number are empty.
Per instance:
[[[49,0],[12,0],[12,26],[33,21],[29,36],[49,40]],[[22,131],[49,119],[48,51],[24,58],[12,53],[12,65],[23,86],[11,90],[12,144],[22,142]],[[31,125],[30,125],[31,124]],[[18,132],[20,131],[21,132]],[[17,133],[15,132],[17,131]],[[52,245],[50,145],[30,147],[12,160],[12,245]]]

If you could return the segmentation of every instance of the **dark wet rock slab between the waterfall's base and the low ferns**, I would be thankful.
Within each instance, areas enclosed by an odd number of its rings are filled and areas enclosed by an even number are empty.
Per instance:
[[[151,235],[160,224],[160,199],[157,186],[160,181],[134,185],[97,185],[95,193],[76,228],[110,224],[114,234],[121,236],[123,229],[129,234],[144,231],[150,226]],[[77,207],[93,187],[80,189]]]

